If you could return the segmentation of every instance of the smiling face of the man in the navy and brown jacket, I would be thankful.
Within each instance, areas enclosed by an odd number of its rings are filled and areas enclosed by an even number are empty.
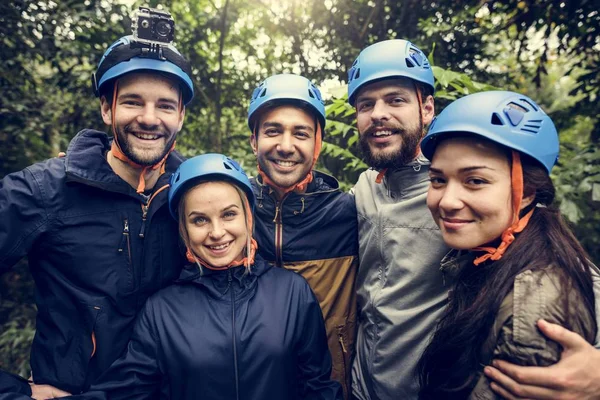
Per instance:
[[[294,106],[268,110],[259,120],[252,149],[258,165],[269,179],[281,188],[290,188],[312,169],[315,118]]]

